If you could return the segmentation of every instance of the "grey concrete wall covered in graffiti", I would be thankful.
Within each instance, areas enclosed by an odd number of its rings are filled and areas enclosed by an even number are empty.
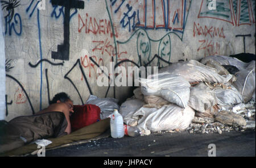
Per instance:
[[[10,60],[6,120],[34,114],[60,91],[74,104],[85,103],[89,94],[126,99],[130,87],[96,85],[97,66],[109,68],[111,60],[126,67],[167,66],[255,53],[254,0],[217,0],[215,10],[207,0],[63,2],[18,0],[10,13],[2,4]]]

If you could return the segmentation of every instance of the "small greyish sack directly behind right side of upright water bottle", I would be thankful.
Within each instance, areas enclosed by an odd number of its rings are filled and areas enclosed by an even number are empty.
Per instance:
[[[123,117],[127,116],[130,112],[134,113],[141,108],[145,103],[140,99],[131,99],[123,102],[119,108],[119,114]]]

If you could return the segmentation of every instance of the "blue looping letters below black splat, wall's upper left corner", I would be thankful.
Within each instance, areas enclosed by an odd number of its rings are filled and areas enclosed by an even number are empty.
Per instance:
[[[10,23],[9,20],[10,16],[5,18],[5,35],[9,32],[9,36],[11,36],[14,31],[16,35],[20,36],[22,33],[22,20],[20,15],[18,13],[14,15],[14,22]],[[16,26],[18,26],[18,28]]]

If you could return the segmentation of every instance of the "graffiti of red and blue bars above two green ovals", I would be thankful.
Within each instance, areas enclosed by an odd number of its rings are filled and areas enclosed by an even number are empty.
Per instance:
[[[134,36],[137,36],[137,38],[135,37],[137,39],[137,57],[141,56],[143,64],[150,62],[155,54],[165,62],[171,63],[171,35],[179,37],[182,41],[192,1],[175,1],[175,4],[173,1],[164,0],[160,1],[160,3],[156,3],[155,0],[135,1],[132,4],[125,1],[110,0],[110,2],[110,11],[114,11],[113,16],[109,14],[110,20],[113,18],[119,19],[122,28],[127,28],[130,32],[133,31],[129,39],[125,41],[116,40],[115,48],[117,48],[118,44],[127,44]],[[107,10],[109,10],[107,1],[106,6]],[[135,30],[135,28],[137,29]],[[159,39],[152,39],[147,33],[150,30],[159,29],[167,31],[166,35]],[[156,44],[158,53],[151,52],[152,43],[158,43]],[[160,60],[158,60],[157,64],[160,66]]]

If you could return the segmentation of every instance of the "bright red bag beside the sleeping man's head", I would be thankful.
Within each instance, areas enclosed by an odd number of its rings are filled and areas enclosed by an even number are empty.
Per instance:
[[[101,120],[101,109],[94,104],[74,105],[73,111],[70,117],[72,132]]]

